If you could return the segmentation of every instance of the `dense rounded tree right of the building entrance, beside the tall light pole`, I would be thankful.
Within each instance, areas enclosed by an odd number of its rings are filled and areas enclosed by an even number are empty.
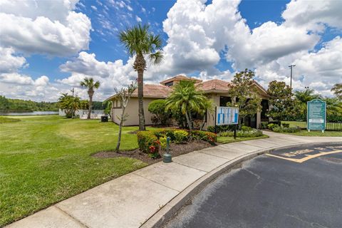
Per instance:
[[[284,120],[294,111],[292,89],[282,81],[271,81],[267,89],[269,94],[268,115],[274,120]]]

